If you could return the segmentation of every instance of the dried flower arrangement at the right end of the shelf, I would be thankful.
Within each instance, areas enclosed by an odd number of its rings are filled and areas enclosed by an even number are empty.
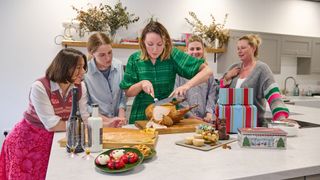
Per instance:
[[[228,14],[225,15],[223,24],[217,24],[215,18],[211,14],[212,23],[209,26],[204,25],[194,12],[189,12],[189,15],[192,17],[193,21],[185,18],[187,23],[193,27],[194,34],[202,37],[207,42],[207,46],[215,47],[216,39],[219,41],[218,47],[223,47],[228,41],[230,37],[229,30],[225,29]]]

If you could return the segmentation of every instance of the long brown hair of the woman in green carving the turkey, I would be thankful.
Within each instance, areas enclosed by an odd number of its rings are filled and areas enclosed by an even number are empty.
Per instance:
[[[146,39],[146,35],[151,32],[160,35],[161,39],[164,41],[164,49],[163,49],[162,54],[160,55],[160,59],[161,60],[169,59],[170,54],[171,54],[171,50],[172,50],[172,43],[171,43],[170,35],[169,35],[167,29],[161,23],[159,23],[157,21],[153,21],[153,20],[151,20],[146,25],[146,27],[144,27],[144,29],[142,30],[141,39],[139,41],[139,46],[141,49],[141,57],[140,58],[143,60],[150,59],[150,56],[147,52],[147,48],[146,48],[144,41]]]

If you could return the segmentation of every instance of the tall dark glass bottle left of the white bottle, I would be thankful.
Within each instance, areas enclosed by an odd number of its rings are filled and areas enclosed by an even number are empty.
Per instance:
[[[67,152],[70,152],[70,147],[75,146],[75,153],[83,152],[81,146],[81,138],[84,136],[84,123],[80,116],[78,102],[78,88],[72,89],[72,107],[69,119],[67,121]]]

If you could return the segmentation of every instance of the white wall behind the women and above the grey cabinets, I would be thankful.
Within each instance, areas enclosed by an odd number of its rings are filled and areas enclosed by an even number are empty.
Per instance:
[[[44,75],[55,54],[62,48],[54,37],[63,33],[61,23],[75,16],[71,5],[109,1],[84,0],[1,0],[0,1],[0,132],[11,129],[26,109],[30,84]],[[135,37],[146,19],[154,15],[172,37],[178,38],[190,27],[184,18],[194,11],[204,23],[213,14],[222,23],[229,13],[227,28],[270,33],[320,37],[320,3],[300,0],[122,0],[130,12],[140,16],[139,23],[119,36]],[[84,50],[84,49],[83,49]],[[85,50],[84,50],[85,51]],[[132,51],[115,50],[115,56],[126,62]],[[209,60],[212,60],[212,56]],[[216,64],[210,62],[216,70]],[[288,64],[288,67],[294,64]],[[287,69],[287,68],[285,68]],[[287,76],[282,68],[282,74]],[[293,71],[290,71],[293,72]],[[309,76],[308,76],[309,77]],[[319,76],[310,76],[319,79]],[[281,83],[279,83],[281,84]]]

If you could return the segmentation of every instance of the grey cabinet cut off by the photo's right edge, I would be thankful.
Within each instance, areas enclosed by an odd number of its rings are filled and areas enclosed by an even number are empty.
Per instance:
[[[320,73],[320,38],[314,38],[312,43],[311,73]]]

